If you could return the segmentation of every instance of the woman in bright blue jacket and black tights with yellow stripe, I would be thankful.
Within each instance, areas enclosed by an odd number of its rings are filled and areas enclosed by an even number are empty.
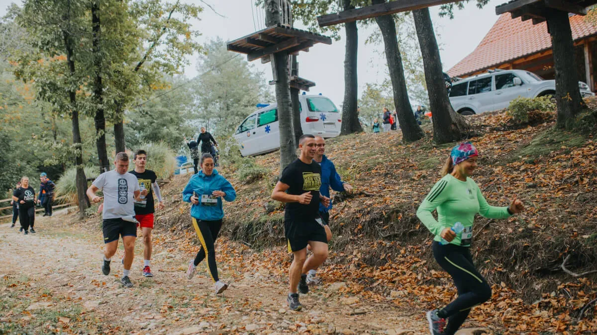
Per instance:
[[[201,250],[195,259],[189,261],[187,278],[193,278],[197,265],[205,259],[207,251],[207,269],[211,279],[216,283],[216,294],[219,294],[228,288],[227,284],[218,277],[214,249],[214,243],[224,217],[221,198],[226,201],[234,201],[236,191],[230,182],[214,169],[214,157],[211,154],[202,154],[199,165],[201,171],[190,178],[189,184],[183,190],[183,200],[193,204],[190,216],[193,219],[193,227],[195,227],[199,241],[201,241]]]

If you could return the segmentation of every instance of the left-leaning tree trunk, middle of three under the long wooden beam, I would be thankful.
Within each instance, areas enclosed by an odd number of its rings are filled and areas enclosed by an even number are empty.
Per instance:
[[[383,4],[384,2],[386,1],[374,0],[373,4]],[[378,16],[375,20],[383,36],[387,67],[390,70],[390,79],[392,80],[394,107],[396,108],[398,125],[402,130],[402,139],[407,142],[414,142],[423,138],[425,134],[418,126],[413,107],[411,107],[408,98],[407,80],[404,78],[402,56],[398,48],[398,37],[396,36],[396,23],[393,15]]]

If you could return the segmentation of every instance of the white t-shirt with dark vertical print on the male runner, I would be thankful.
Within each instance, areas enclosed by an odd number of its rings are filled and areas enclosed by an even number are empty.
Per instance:
[[[93,185],[104,193],[103,219],[118,219],[124,216],[134,216],[134,192],[139,191],[137,177],[125,172],[123,175],[111,170],[101,173]]]

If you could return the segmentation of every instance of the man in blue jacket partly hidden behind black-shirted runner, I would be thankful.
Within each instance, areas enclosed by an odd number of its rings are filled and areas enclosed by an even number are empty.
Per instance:
[[[338,172],[336,172],[336,166],[332,163],[328,157],[325,156],[325,139],[321,136],[315,137],[315,145],[317,150],[315,151],[315,157],[313,160],[321,166],[321,188],[319,193],[322,196],[330,198],[330,187],[336,192],[346,191],[352,192],[352,186],[347,182],[343,182]],[[332,201],[326,207],[323,203],[319,203],[319,216],[321,216],[324,222],[325,235],[328,238],[328,242],[332,239],[332,231],[330,229],[330,209],[332,209]],[[310,270],[307,274],[307,284],[316,284],[319,278],[315,277],[316,269]]]

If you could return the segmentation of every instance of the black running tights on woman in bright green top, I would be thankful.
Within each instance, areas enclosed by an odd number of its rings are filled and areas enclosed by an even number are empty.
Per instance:
[[[438,311],[438,317],[447,318],[445,334],[455,334],[468,317],[470,309],[491,299],[491,287],[475,269],[469,247],[433,242],[433,257],[456,284],[458,297]]]

